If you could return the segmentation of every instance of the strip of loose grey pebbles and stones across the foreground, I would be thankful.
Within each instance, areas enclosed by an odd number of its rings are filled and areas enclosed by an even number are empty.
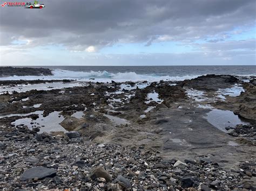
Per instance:
[[[166,160],[143,146],[92,144],[69,136],[1,129],[2,189],[254,189],[253,160],[226,171],[205,156]]]

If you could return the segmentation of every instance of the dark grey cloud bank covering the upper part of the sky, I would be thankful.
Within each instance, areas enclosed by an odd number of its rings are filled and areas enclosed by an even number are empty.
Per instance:
[[[76,51],[116,43],[146,43],[149,46],[159,38],[164,40],[162,36],[169,40],[193,41],[224,35],[235,27],[255,25],[254,0],[64,0],[42,3],[46,6],[42,10],[1,9],[3,45],[22,37],[32,40],[30,46],[62,44]]]

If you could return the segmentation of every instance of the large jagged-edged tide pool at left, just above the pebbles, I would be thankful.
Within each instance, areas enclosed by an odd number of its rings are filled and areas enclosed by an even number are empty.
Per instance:
[[[53,111],[46,117],[43,117],[43,112],[44,111],[33,112],[33,114],[38,114],[39,116],[39,118],[37,118],[36,120],[32,120],[31,118],[23,118],[23,119],[17,119],[15,122],[12,122],[11,124],[13,125],[24,124],[28,126],[29,129],[35,128],[36,126],[40,129],[39,133],[43,133],[43,132],[49,133],[49,132],[56,132],[56,131],[66,132],[63,126],[59,124],[64,120],[64,117],[62,115],[59,115],[60,113],[59,111]]]

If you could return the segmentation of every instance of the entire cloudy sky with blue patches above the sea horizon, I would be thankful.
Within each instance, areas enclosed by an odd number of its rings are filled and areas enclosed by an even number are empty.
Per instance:
[[[255,0],[38,3],[0,7],[0,66],[256,65]]]

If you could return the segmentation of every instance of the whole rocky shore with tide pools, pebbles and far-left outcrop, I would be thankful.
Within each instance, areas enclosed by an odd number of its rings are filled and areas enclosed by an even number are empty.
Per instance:
[[[0,79],[0,188],[255,190],[255,79]]]

